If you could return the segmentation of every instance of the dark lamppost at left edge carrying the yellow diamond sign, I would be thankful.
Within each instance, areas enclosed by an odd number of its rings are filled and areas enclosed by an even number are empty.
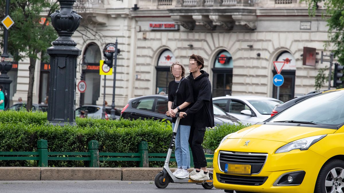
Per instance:
[[[6,11],[5,16],[8,15],[10,10],[10,0],[6,0]],[[5,109],[8,109],[10,107],[10,84],[12,80],[10,80],[10,77],[7,75],[7,72],[11,70],[12,63],[7,60],[10,56],[7,53],[7,44],[8,44],[8,30],[6,27],[4,28],[4,38],[3,38],[3,53],[1,55],[1,61],[0,61],[0,85],[2,85],[2,92],[5,95]],[[7,60],[7,61],[6,61]]]

